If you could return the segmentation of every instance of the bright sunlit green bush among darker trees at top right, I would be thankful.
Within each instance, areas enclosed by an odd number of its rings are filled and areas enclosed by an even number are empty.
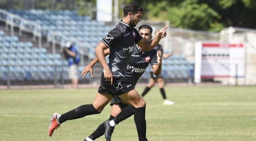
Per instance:
[[[169,18],[175,27],[208,30],[221,16],[207,4],[184,1],[178,7],[170,8]]]

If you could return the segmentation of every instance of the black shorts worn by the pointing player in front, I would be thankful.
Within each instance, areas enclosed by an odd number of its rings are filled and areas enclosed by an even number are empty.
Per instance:
[[[104,73],[102,72],[101,74],[99,93],[111,94],[114,97],[115,95],[121,95],[134,89],[135,86],[125,77],[113,77],[113,85],[111,85],[111,82],[104,78]]]

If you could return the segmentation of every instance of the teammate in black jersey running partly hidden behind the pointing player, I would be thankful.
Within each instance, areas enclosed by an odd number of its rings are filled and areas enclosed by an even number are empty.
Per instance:
[[[141,25],[139,27],[139,34],[146,40],[150,40],[152,38],[152,31],[153,29],[148,25]],[[135,49],[132,52],[131,57],[128,61],[125,77],[132,85],[135,86],[136,83],[138,82],[138,79],[146,71],[149,63],[153,68],[154,74],[160,74],[162,70],[162,56],[161,52],[157,54],[157,52],[154,49],[150,51],[144,51],[136,44],[134,44],[134,46]],[[108,53],[109,49],[106,49],[105,55],[107,55]],[[82,77],[84,77],[88,72],[90,72],[91,77],[93,77],[93,66],[97,62],[97,58],[92,60],[90,64],[88,64],[88,66],[84,68],[82,72]],[[116,124],[134,114],[134,107],[128,106],[127,104],[124,104],[121,101],[122,99],[119,96],[114,96],[110,103],[110,105],[112,106],[112,110],[109,120],[113,120]],[[123,110],[122,112],[125,114],[120,114],[121,116],[117,116],[121,112],[121,110]],[[105,122],[103,122],[90,136],[84,139],[84,141],[93,141],[98,137],[102,136],[105,132],[104,123]]]

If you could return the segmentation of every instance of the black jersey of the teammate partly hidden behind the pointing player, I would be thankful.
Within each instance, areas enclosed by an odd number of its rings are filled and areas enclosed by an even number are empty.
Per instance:
[[[141,75],[146,71],[148,64],[151,66],[157,63],[156,50],[141,52],[139,47],[135,44],[135,49],[131,54],[125,73],[126,79],[132,84],[136,85]]]

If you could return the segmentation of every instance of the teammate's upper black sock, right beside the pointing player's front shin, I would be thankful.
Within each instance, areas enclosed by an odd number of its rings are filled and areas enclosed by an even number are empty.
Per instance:
[[[132,116],[134,114],[135,108],[132,106],[125,107],[114,119],[115,124],[124,121],[126,118]]]

